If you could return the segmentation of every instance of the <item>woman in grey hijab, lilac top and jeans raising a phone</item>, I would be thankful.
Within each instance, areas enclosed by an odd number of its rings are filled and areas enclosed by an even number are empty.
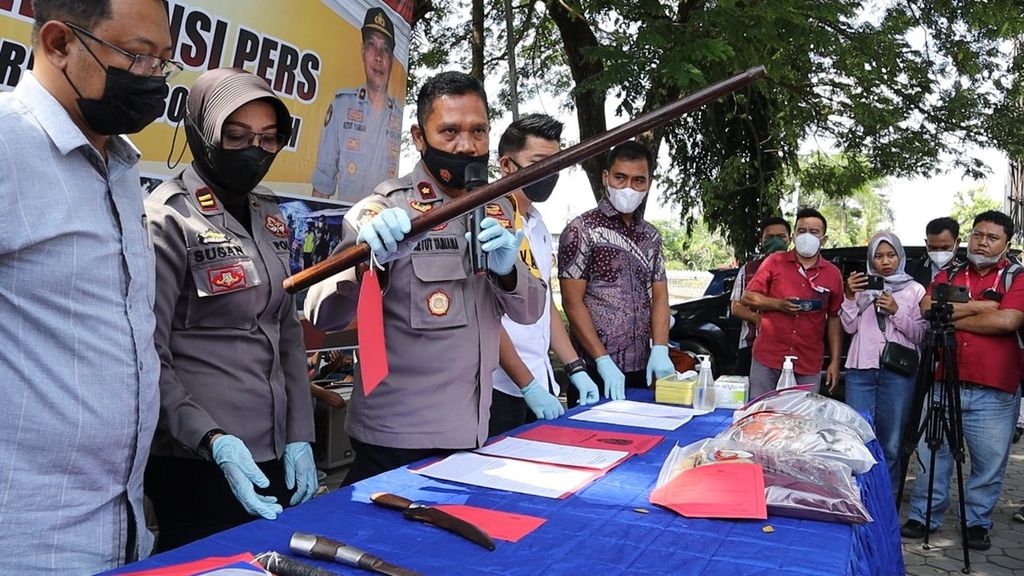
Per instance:
[[[850,275],[840,310],[843,329],[853,335],[846,359],[846,403],[871,416],[894,486],[915,376],[883,366],[882,352],[887,342],[895,342],[920,354],[925,335],[920,306],[925,288],[905,266],[899,238],[891,232],[876,234],[867,244],[867,274]],[[868,277],[882,277],[884,287],[867,289]]]

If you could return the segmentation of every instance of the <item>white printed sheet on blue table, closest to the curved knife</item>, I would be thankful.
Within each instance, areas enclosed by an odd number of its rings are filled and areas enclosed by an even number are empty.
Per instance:
[[[571,494],[602,474],[599,470],[495,458],[472,452],[456,452],[439,462],[412,471],[437,480],[546,498]]]

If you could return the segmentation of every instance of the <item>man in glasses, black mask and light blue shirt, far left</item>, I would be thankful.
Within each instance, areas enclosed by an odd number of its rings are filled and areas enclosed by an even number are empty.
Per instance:
[[[159,0],[35,0],[35,65],[0,94],[0,574],[150,553],[154,262],[134,133],[164,111]]]

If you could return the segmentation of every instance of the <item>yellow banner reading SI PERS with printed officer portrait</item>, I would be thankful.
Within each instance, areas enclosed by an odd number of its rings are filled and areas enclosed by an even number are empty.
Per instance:
[[[174,42],[171,58],[184,65],[184,72],[171,80],[164,115],[131,136],[142,152],[144,176],[163,179],[190,160],[179,126],[188,87],[203,72],[222,67],[266,80],[294,116],[292,138],[264,180],[273,190],[310,196],[316,182],[316,197],[342,201],[365,195],[366,186],[372,190],[373,184],[361,182],[394,175],[411,0],[165,4]],[[31,0],[0,0],[0,91],[13,89],[32,66],[32,24]],[[366,42],[364,29],[375,33]],[[182,151],[181,163],[168,168],[168,158],[173,163]]]

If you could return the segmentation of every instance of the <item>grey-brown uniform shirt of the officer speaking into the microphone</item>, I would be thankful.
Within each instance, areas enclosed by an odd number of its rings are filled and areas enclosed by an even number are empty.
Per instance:
[[[415,217],[447,201],[421,162],[349,210],[336,250],[351,246],[358,229],[385,208],[401,207]],[[507,200],[488,204],[486,211],[512,228]],[[345,422],[353,438],[414,449],[473,448],[486,440],[502,315],[537,322],[547,288],[520,258],[511,292],[489,274],[473,274],[465,233],[465,218],[457,218],[407,239],[382,275],[389,372],[370,396],[356,378]],[[310,288],[306,317],[317,328],[342,328],[354,316],[357,293],[354,271],[336,275]]]

